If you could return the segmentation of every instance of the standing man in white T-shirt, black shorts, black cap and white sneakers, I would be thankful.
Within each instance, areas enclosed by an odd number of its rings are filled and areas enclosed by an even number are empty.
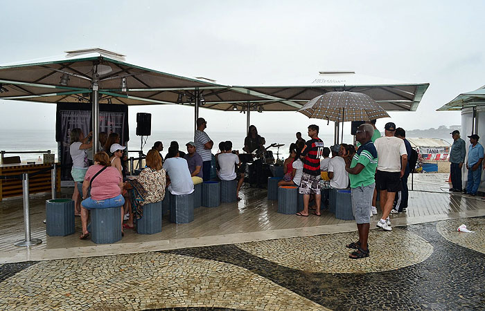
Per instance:
[[[385,135],[374,142],[378,154],[376,188],[380,194],[382,209],[382,217],[377,226],[387,231],[392,230],[389,213],[394,204],[396,192],[402,187],[401,178],[404,176],[407,164],[404,140],[395,137],[395,132],[396,124],[388,122],[385,125]]]

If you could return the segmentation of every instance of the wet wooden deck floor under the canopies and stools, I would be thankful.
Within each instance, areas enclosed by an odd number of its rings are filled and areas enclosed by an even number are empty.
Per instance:
[[[414,191],[409,191],[409,207],[407,213],[393,214],[393,225],[407,224],[416,221],[432,221],[443,217],[464,216],[467,211],[479,211],[485,214],[485,200],[470,198],[461,194],[449,194],[449,185],[445,174],[427,174],[414,176]],[[411,180],[409,179],[409,189]],[[69,196],[72,189],[63,189],[63,196]],[[285,229],[301,228],[330,228],[340,225],[343,231],[355,229],[353,220],[338,220],[328,211],[322,212],[321,217],[310,215],[299,217],[283,215],[276,212],[277,202],[267,200],[266,191],[261,189],[243,189],[243,200],[238,203],[224,203],[220,207],[200,207],[195,210],[195,220],[184,225],[175,225],[164,217],[162,232],[152,235],[139,235],[134,230],[125,229],[125,237],[116,243],[119,249],[123,245],[132,246],[139,243],[160,243],[184,239],[201,239],[204,237],[221,237],[238,234],[274,232]],[[33,196],[30,198],[30,225],[33,238],[41,238],[43,243],[30,247],[31,250],[73,249],[75,247],[98,247],[91,241],[80,241],[80,218],[76,217],[76,234],[65,237],[46,236],[45,200],[47,196]],[[471,213],[475,215],[474,213]],[[26,248],[16,247],[15,241],[24,239],[24,223],[21,198],[0,202],[0,215],[3,226],[0,228],[1,261],[8,256],[23,254]],[[380,214],[373,216],[378,220]],[[337,226],[339,227],[339,226]],[[335,232],[339,229],[333,228]],[[315,231],[314,231],[315,232]],[[326,233],[324,229],[319,229]],[[45,253],[44,252],[44,253]]]

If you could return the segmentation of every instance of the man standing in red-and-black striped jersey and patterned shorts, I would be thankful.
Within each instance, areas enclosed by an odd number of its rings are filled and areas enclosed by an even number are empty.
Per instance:
[[[314,214],[320,216],[320,157],[324,152],[324,142],[318,138],[318,130],[319,128],[315,124],[308,126],[308,136],[311,140],[308,140],[301,150],[303,175],[300,182],[300,194],[303,194],[303,211],[299,211],[298,216],[308,216],[310,194],[315,194],[317,203],[317,210]]]

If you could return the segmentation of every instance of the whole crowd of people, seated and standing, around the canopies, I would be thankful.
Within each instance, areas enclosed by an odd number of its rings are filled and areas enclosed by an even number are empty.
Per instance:
[[[143,216],[143,205],[164,199],[165,191],[174,195],[191,194],[194,185],[204,180],[236,180],[236,195],[248,173],[247,162],[252,162],[254,181],[261,187],[267,178],[262,173],[261,154],[265,139],[258,134],[256,126],[249,127],[245,138],[245,154],[232,150],[232,142],[224,141],[218,145],[219,153],[212,154],[213,141],[204,131],[207,122],[197,119],[194,140],[186,143],[186,152],[179,150],[179,144],[170,142],[168,154],[164,159],[161,151],[164,145],[155,142],[146,156],[146,167],[134,179],[126,179],[126,147],[120,144],[117,133],[100,133],[102,150],[89,159],[92,150],[92,133],[84,135],[80,129],[71,131],[70,153],[73,160],[71,174],[76,184],[73,200],[76,202],[76,215],[81,216],[82,235],[87,232],[88,211],[91,208],[106,208],[124,205],[121,222],[124,229],[133,229],[134,222]],[[385,124],[385,135],[381,137],[376,128],[376,120],[361,124],[355,133],[353,144],[335,144],[324,147],[318,137],[319,126],[308,126],[306,141],[297,133],[297,141],[290,145],[290,156],[283,162],[281,185],[299,187],[303,195],[303,209],[297,216],[321,216],[321,203],[328,206],[329,189],[351,189],[352,208],[358,224],[359,240],[346,245],[357,249],[351,258],[369,256],[367,236],[370,218],[378,213],[376,200],[380,196],[382,216],[377,226],[391,231],[389,214],[406,211],[408,204],[407,178],[414,166],[411,144],[406,140],[405,130],[396,124]],[[454,140],[450,151],[450,191],[464,191],[471,196],[477,194],[481,176],[484,148],[478,143],[479,136],[470,138],[468,150],[468,185],[461,187],[461,168],[465,162],[465,142],[459,131],[453,131]],[[92,151],[91,151],[92,153]],[[331,157],[330,157],[331,154]],[[409,164],[411,162],[411,164]],[[215,171],[215,172],[214,172]],[[323,199],[322,199],[323,196]],[[123,220],[127,220],[123,223]]]

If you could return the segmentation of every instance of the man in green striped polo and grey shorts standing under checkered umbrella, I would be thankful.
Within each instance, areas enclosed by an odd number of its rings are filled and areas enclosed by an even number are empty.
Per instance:
[[[359,241],[350,243],[346,247],[357,249],[350,254],[350,258],[358,259],[369,256],[367,238],[369,223],[371,222],[371,204],[376,180],[374,175],[377,168],[377,150],[371,140],[374,133],[371,124],[361,124],[355,133],[355,140],[361,146],[346,160],[345,170],[351,180],[352,211],[359,230]]]

